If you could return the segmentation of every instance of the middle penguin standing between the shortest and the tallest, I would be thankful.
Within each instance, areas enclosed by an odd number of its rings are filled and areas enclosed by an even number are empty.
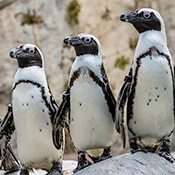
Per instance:
[[[68,90],[63,95],[65,103],[63,100],[60,106],[61,114],[69,111],[68,128],[78,153],[74,170],[77,172],[92,162],[111,157],[116,101],[103,66],[99,40],[84,33],[68,36],[64,43],[73,46],[76,52]]]

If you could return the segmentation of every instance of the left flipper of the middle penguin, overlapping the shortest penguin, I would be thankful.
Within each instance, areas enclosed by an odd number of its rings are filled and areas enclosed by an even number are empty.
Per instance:
[[[66,124],[67,113],[70,108],[70,90],[63,93],[63,99],[53,122],[53,143],[57,149],[63,143],[63,129]]]

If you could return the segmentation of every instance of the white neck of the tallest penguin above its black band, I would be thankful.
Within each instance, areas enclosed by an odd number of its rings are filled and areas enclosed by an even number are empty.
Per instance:
[[[165,31],[155,31],[150,30],[143,32],[139,35],[139,41],[136,47],[135,58],[140,56],[141,54],[147,52],[150,48],[156,47],[160,52],[168,51],[167,48],[167,40]]]

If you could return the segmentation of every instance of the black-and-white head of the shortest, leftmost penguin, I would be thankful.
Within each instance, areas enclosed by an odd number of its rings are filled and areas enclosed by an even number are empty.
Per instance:
[[[20,68],[38,66],[43,67],[44,59],[40,49],[33,44],[20,44],[9,53],[11,58],[16,58]]]

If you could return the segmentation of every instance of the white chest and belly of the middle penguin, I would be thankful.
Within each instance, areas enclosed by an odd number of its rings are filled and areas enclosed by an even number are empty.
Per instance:
[[[102,89],[88,74],[81,74],[71,87],[70,133],[78,150],[112,144],[114,123]]]

